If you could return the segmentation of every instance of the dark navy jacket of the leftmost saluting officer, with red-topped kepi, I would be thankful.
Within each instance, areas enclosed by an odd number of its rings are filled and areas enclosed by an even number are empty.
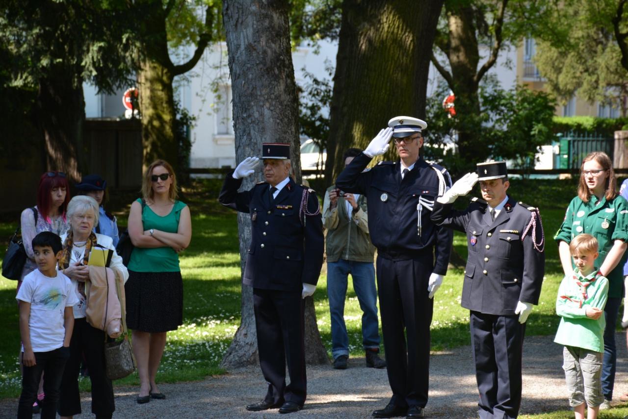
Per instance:
[[[249,213],[252,238],[242,282],[254,288],[301,291],[303,282],[316,285],[323,265],[323,222],[318,199],[308,194],[303,214],[301,199],[307,188],[290,179],[271,204],[270,185],[256,184],[251,190],[238,192],[242,179],[227,174],[219,201],[229,208]]]

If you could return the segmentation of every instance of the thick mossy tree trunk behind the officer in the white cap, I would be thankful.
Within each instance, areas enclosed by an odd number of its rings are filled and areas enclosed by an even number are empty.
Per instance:
[[[431,48],[442,6],[443,0],[343,1],[327,179],[342,171],[347,148],[365,148],[392,117],[425,117]]]

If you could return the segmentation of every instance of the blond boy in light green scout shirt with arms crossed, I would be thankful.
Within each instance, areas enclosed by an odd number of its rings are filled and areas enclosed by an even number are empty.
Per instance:
[[[570,393],[569,405],[576,419],[597,418],[602,395],[602,352],[604,351],[604,305],[609,280],[594,267],[598,242],[589,234],[575,236],[569,250],[575,270],[565,275],[558,289],[556,314],[561,316],[554,341],[565,345],[563,369]]]

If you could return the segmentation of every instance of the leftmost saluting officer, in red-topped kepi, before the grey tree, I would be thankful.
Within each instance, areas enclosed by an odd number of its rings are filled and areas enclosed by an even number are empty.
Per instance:
[[[305,403],[303,299],[314,294],[323,264],[323,223],[314,191],[288,176],[290,146],[263,144],[262,156],[266,182],[237,191],[259,161],[247,157],[227,174],[219,200],[251,216],[242,282],[253,287],[259,364],[268,391],[264,400],[246,408],[291,413]]]

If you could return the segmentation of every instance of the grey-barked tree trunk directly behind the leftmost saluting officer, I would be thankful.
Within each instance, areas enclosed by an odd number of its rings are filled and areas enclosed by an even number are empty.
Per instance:
[[[298,101],[292,64],[288,3],[278,0],[224,0],[222,6],[233,94],[236,161],[261,156],[262,142],[290,144],[291,162],[301,179]],[[250,189],[261,168],[244,179]],[[251,220],[238,216],[242,272],[251,242]],[[310,300],[310,301],[307,301]],[[329,362],[318,332],[311,297],[305,310],[306,361]],[[257,362],[257,335],[251,287],[242,287],[240,327],[222,360],[223,367]]]

